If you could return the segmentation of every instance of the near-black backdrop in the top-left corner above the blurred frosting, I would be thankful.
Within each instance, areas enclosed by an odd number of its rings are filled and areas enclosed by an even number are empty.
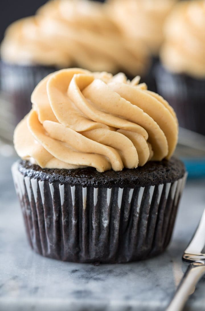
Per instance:
[[[103,0],[99,0],[103,2]],[[47,0],[2,0],[0,10],[0,42],[4,31],[13,21],[35,14],[37,9]]]

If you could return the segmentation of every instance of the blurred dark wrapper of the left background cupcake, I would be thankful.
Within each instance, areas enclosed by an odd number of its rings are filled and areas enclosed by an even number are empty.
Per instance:
[[[35,86],[55,67],[20,66],[0,61],[1,108],[0,123],[5,123],[4,131],[12,140],[17,123],[31,109],[31,93]],[[8,135],[8,132],[10,133]]]

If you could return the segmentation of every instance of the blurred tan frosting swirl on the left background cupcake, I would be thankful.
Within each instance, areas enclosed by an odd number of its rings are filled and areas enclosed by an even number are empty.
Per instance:
[[[35,17],[6,31],[2,59],[20,64],[84,67],[91,71],[135,76],[149,66],[149,53],[139,39],[127,40],[107,6],[88,0],[53,0]]]

